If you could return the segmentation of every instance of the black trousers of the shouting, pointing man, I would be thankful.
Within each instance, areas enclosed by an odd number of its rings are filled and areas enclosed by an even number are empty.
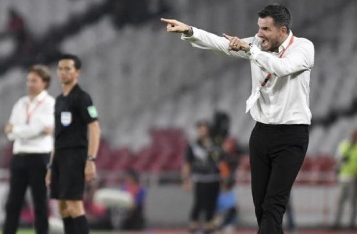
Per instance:
[[[249,150],[258,234],[283,234],[283,215],[308,144],[307,125],[255,125]]]

